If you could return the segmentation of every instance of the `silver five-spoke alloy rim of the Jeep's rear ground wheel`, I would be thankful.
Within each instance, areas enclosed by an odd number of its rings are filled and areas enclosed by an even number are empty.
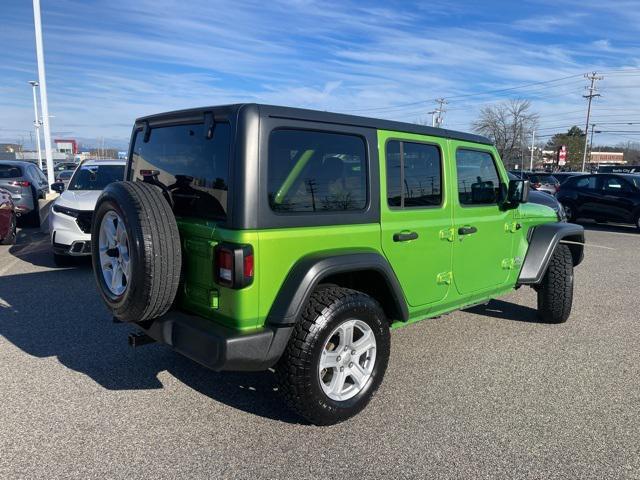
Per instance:
[[[376,337],[362,320],[338,325],[322,347],[318,375],[324,393],[336,401],[356,396],[367,384],[376,362]]]

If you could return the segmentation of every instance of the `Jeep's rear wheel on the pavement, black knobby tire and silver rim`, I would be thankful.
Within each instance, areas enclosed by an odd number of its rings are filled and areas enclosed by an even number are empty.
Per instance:
[[[316,425],[360,412],[389,361],[389,325],[364,293],[325,286],[311,295],[276,367],[288,404]]]

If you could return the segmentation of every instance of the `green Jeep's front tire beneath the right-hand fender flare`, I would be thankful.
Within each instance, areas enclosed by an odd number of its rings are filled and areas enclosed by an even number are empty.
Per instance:
[[[559,244],[538,286],[538,317],[547,323],[566,322],[573,302],[573,257]]]

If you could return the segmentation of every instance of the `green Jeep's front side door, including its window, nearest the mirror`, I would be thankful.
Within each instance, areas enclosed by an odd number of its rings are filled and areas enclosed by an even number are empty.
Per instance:
[[[500,206],[506,173],[497,167],[495,150],[451,142],[456,195],[453,222],[456,241],[453,272],[462,295],[499,287],[514,268],[513,210]]]

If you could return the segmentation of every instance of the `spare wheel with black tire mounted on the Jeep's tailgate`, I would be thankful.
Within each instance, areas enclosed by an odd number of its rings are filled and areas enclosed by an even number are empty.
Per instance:
[[[96,204],[91,245],[98,290],[114,317],[142,322],[169,310],[182,253],[176,219],[159,187],[108,185]]]

